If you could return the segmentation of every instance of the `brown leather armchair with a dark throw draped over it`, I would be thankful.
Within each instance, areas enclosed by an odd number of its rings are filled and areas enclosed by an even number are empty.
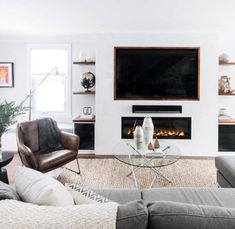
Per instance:
[[[45,173],[76,160],[78,171],[69,170],[80,174],[77,159],[80,139],[77,135],[61,131],[61,141],[66,149],[46,154],[39,152],[38,126],[35,120],[17,124],[16,137],[18,153],[24,166]]]

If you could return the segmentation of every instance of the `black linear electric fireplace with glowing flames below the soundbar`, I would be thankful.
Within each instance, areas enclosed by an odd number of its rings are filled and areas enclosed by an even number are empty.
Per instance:
[[[133,138],[136,125],[143,123],[144,117],[122,117],[122,139]],[[159,139],[191,139],[190,117],[152,117],[154,137]]]

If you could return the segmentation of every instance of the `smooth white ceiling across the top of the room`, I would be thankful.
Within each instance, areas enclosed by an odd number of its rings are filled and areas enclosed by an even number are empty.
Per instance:
[[[235,31],[234,0],[0,0],[0,35]]]

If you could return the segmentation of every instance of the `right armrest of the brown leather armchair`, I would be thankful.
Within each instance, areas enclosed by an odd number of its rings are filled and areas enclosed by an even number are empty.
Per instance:
[[[80,138],[77,135],[61,131],[61,141],[64,147],[78,151]]]

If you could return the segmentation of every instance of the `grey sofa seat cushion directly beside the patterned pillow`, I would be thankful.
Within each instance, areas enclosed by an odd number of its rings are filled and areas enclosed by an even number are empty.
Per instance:
[[[113,188],[93,190],[101,196],[104,196],[119,204],[125,204],[134,200],[141,200],[141,191],[138,189]]]

